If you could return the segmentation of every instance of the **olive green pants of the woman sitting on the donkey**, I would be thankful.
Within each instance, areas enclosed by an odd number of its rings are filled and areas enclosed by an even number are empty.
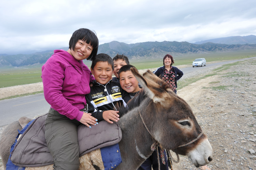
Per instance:
[[[77,170],[79,168],[79,146],[77,126],[81,123],[71,120],[54,109],[50,109],[45,120],[45,139],[53,156],[53,168]]]

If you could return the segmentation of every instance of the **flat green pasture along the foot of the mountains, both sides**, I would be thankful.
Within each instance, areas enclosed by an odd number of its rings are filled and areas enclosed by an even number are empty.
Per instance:
[[[174,56],[175,63],[173,65],[192,66],[192,62],[196,58],[205,58],[206,62],[208,63],[216,61],[221,62],[227,60],[243,59],[248,57],[254,57],[255,55],[256,49],[232,52],[216,52],[208,54],[191,54],[177,57]],[[164,56],[155,59],[130,60],[130,64],[134,65],[137,69],[156,68],[163,65],[163,57]],[[84,63],[90,68],[91,62],[84,61]],[[27,66],[26,68],[0,67],[0,88],[42,82],[41,67],[42,65]]]

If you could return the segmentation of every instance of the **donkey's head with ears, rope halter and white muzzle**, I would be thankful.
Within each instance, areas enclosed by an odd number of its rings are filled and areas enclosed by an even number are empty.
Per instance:
[[[162,148],[187,155],[196,167],[208,164],[212,147],[189,105],[152,72],[131,71],[148,96],[139,112],[151,136]]]

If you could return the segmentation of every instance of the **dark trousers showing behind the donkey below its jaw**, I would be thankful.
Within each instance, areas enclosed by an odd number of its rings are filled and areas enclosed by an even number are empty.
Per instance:
[[[160,153],[160,148],[158,147],[158,155],[160,159],[160,170],[169,170],[168,163],[167,163],[167,156],[166,152],[163,151],[165,155],[165,165],[162,163],[161,160],[161,153]],[[155,150],[150,157],[148,157],[144,163],[139,167],[138,170],[158,170],[158,161],[157,161],[157,151]]]

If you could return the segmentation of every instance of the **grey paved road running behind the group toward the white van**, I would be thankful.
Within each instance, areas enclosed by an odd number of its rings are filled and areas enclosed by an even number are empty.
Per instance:
[[[256,57],[253,57],[256,58]],[[252,58],[248,58],[252,59]],[[203,67],[186,67],[182,68],[184,74],[198,71],[200,69],[207,69],[216,65],[228,64],[241,60],[225,61],[213,64],[207,64]],[[12,99],[6,99],[0,101],[0,127],[10,124],[13,121],[18,120],[20,117],[26,116],[33,118],[34,116],[42,115],[48,112],[50,105],[45,101],[43,93],[34,94],[24,97],[16,97]]]

